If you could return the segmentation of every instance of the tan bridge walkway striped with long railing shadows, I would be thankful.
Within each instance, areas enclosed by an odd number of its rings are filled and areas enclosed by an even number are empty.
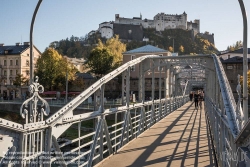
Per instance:
[[[99,166],[215,166],[204,110],[187,103]]]

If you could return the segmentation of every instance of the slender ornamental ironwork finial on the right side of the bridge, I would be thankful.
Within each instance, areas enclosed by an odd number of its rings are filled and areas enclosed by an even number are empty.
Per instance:
[[[237,120],[239,121],[239,129],[241,130],[245,124],[245,121],[244,121],[244,114],[243,114],[242,107],[241,107],[241,85],[240,85],[240,75],[239,74],[238,74],[237,78],[238,78],[238,85],[236,87],[236,91],[238,93],[239,98],[238,98],[238,102],[237,102],[237,106],[236,106],[236,114],[237,114]]]

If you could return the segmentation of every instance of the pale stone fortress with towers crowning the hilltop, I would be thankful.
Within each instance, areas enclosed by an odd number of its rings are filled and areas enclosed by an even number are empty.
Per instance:
[[[88,35],[93,33],[100,33],[101,37],[109,39],[118,34],[122,40],[137,40],[143,39],[143,28],[154,28],[156,31],[161,32],[165,29],[183,29],[191,30],[191,36],[194,37],[197,34],[208,39],[211,43],[214,43],[214,34],[208,32],[200,33],[200,20],[187,21],[187,14],[183,12],[179,15],[158,13],[151,19],[142,19],[140,17],[124,18],[119,14],[115,14],[115,21],[103,22],[99,24],[97,31],[91,31]]]

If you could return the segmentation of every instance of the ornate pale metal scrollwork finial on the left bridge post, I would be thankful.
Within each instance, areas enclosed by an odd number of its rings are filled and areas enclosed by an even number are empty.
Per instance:
[[[44,88],[38,83],[38,76],[36,76],[35,82],[29,86],[31,97],[25,100],[20,108],[20,115],[26,119],[26,123],[43,121],[43,115],[48,116],[50,112],[49,104],[39,96],[39,93],[43,93],[43,91]],[[38,109],[39,101],[42,103],[40,110]]]

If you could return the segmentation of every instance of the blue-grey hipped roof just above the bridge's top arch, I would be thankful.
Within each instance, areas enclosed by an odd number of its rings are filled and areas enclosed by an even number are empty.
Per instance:
[[[157,48],[152,45],[146,45],[137,49],[129,50],[127,52],[124,52],[123,54],[131,54],[131,53],[162,53],[162,52],[168,52],[167,50]]]

